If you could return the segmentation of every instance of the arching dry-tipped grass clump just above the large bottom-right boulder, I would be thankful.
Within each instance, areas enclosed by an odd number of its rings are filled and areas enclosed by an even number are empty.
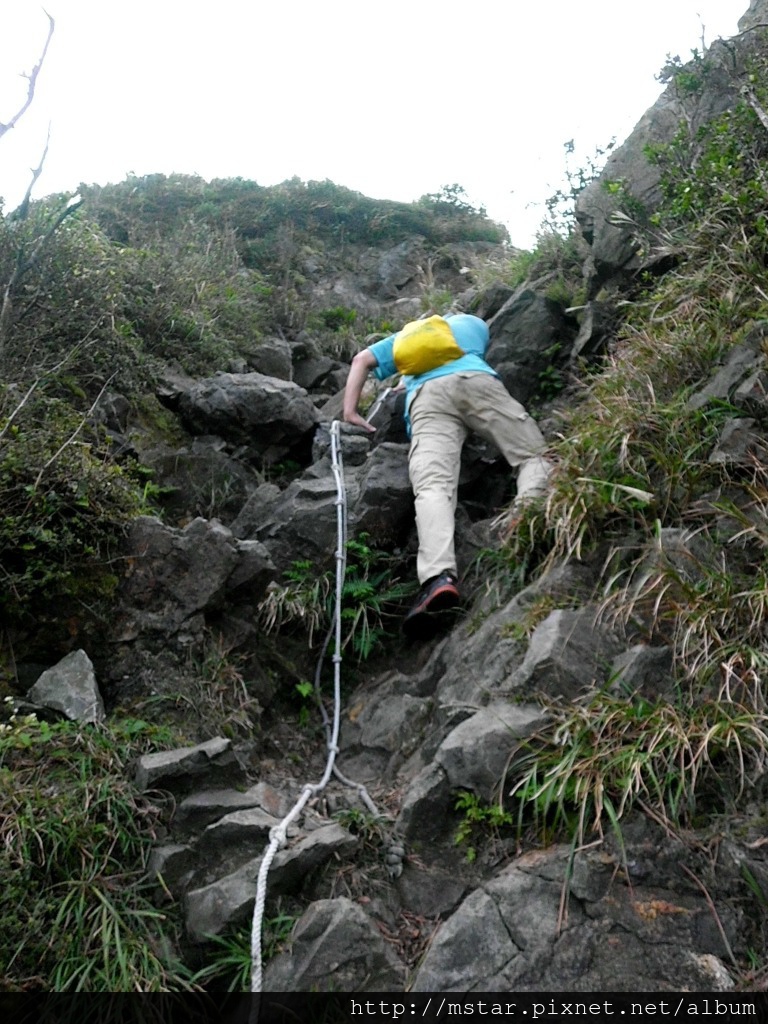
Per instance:
[[[699,802],[730,809],[762,773],[768,716],[759,687],[725,685],[693,705],[599,693],[550,705],[516,765],[518,820],[574,829],[579,844],[637,806],[677,826]]]

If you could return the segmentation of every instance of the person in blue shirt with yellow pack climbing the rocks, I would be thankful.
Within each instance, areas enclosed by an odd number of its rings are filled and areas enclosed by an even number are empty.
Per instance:
[[[368,375],[386,380],[399,373],[406,388],[422,587],[402,623],[409,637],[428,635],[432,612],[460,600],[454,517],[461,453],[470,431],[494,441],[517,468],[515,507],[547,489],[551,466],[543,454],[544,438],[485,361],[488,340],[487,325],[479,316],[429,316],[357,352],[349,369],[343,417],[368,431],[375,427],[357,409]]]

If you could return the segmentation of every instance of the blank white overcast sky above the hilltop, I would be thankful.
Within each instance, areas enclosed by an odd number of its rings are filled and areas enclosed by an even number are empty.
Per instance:
[[[0,139],[0,196],[129,173],[330,178],[411,202],[443,184],[532,243],[563,182],[625,139],[668,53],[737,32],[749,0],[45,0],[35,102]],[[47,18],[3,0],[0,122],[26,95]]]

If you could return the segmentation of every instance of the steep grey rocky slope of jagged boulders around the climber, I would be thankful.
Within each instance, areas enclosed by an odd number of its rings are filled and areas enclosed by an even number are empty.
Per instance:
[[[695,117],[726,110],[739,94],[746,58],[762,45],[765,8],[754,0],[741,35],[713,46],[715,70],[696,95]],[[621,178],[646,210],[659,193],[644,144],[669,140],[691,116],[688,102],[670,86],[606,168],[605,179]],[[456,308],[488,322],[490,361],[518,399],[538,404],[553,441],[567,399],[542,404],[543,382],[604,353],[623,297],[643,274],[665,269],[657,251],[644,250],[633,225],[616,219],[611,195],[595,184],[580,200],[587,302],[578,311],[547,297],[541,283],[472,287],[471,272],[462,272],[469,251],[442,279]],[[361,295],[354,274],[317,287],[402,322],[421,311],[419,274],[429,255],[419,240],[385,253],[376,295]],[[712,459],[745,466],[766,443],[763,336],[760,328],[735,345],[691,399],[691,408],[732,403]],[[173,490],[165,519],[135,522],[114,631],[91,652],[108,709],[171,700],[184,688],[201,693],[190,658],[211,636],[242,658],[248,700],[234,727],[228,723],[233,734],[144,757],[135,773],[139,788],[165,794],[173,808],[152,870],[162,877],[158,898],[182,903],[190,955],[203,962],[210,936],[249,926],[270,829],[323,773],[323,729],[310,735],[281,722],[280,691],[311,678],[314,655],[303,637],[266,634],[263,609],[297,562],[309,562],[315,577],[334,567],[330,432],[345,373],[345,358],[322,354],[311,337],[275,339],[257,365],[202,380],[169,372],[160,397],[186,434],[183,446],[110,414],[111,429]],[[375,538],[402,568],[415,538],[393,397],[377,423],[373,440],[340,432],[348,531]],[[367,663],[351,651],[342,663],[338,767],[355,784],[337,776],[313,797],[275,857],[267,912],[298,920],[290,948],[267,965],[267,989],[721,990],[743,977],[739,965],[763,942],[762,769],[737,816],[715,814],[700,829],[639,811],[621,828],[586,828],[581,843],[547,843],[548,822],[513,827],[510,792],[553,707],[596,692],[665,699],[676,679],[671,645],[638,642],[600,613],[602,552],[560,558],[522,588],[484,568],[487,556],[477,570],[478,555],[502,544],[498,515],[512,489],[498,453],[468,445],[458,513],[466,607],[425,644],[390,641]],[[658,550],[683,575],[710,557],[696,544],[682,526],[658,536]],[[57,693],[73,687],[81,710],[71,713],[82,717],[83,677],[92,670],[77,656],[74,669],[51,671],[60,673]],[[331,674],[326,659],[328,714]],[[95,680],[88,685],[88,714],[98,717]],[[46,693],[30,699],[44,703]],[[262,731],[249,701],[258,702]],[[494,806],[508,815],[496,824]]]

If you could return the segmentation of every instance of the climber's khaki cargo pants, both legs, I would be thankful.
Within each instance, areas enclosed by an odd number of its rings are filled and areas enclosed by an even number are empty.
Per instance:
[[[517,498],[546,493],[551,466],[542,432],[498,377],[457,373],[427,381],[410,406],[409,472],[416,498],[420,583],[456,572],[454,516],[464,441],[470,431],[494,441],[517,467]]]

